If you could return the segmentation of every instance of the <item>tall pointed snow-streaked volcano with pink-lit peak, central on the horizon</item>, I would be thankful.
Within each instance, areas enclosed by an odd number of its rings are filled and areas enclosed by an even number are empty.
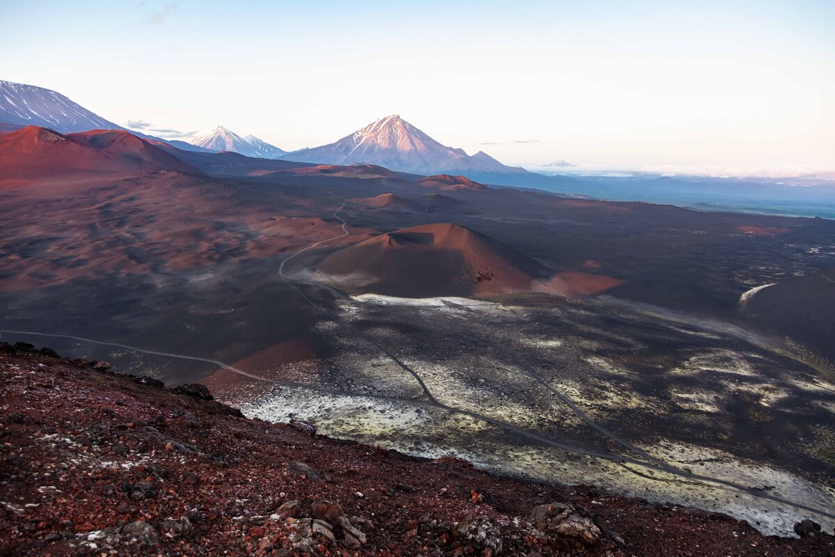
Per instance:
[[[414,174],[526,172],[485,153],[470,156],[463,149],[446,147],[397,114],[378,119],[336,143],[293,151],[284,158],[328,165],[367,163]]]

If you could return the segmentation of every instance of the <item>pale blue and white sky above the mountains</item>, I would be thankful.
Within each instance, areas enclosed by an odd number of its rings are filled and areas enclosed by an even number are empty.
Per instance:
[[[509,165],[835,169],[833,0],[0,0],[0,21],[0,79],[164,137],[291,150],[400,114]]]

